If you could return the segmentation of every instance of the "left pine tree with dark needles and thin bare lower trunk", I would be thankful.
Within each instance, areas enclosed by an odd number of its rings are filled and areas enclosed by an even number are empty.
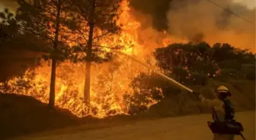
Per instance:
[[[69,8],[72,0],[17,0],[19,8],[17,18],[20,20],[24,33],[33,33],[45,43],[47,55],[52,60],[49,106],[55,105],[56,61],[63,58],[63,49],[59,46],[60,36],[66,32],[72,18]]]

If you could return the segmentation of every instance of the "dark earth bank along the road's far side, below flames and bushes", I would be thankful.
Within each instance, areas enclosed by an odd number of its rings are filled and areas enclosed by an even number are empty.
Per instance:
[[[251,81],[211,81],[206,86],[194,86],[198,92],[207,98],[213,98],[211,92],[217,85],[225,85],[232,92],[232,102],[237,111],[256,109],[256,83]],[[69,110],[49,111],[46,104],[34,98],[13,95],[0,95],[0,138],[28,135],[35,132],[52,131],[63,127],[87,124],[87,129],[98,129],[108,126],[130,123],[136,120],[156,119],[161,117],[177,117],[191,114],[205,114],[209,108],[204,107],[198,99],[188,92],[170,92],[158,104],[146,112],[138,112],[135,116],[107,117],[98,120],[92,117],[77,118]]]

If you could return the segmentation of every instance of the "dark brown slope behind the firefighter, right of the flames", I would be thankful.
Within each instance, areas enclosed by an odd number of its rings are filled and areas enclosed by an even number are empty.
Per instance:
[[[214,98],[213,91],[217,86],[227,86],[232,92],[232,103],[236,111],[256,109],[256,82],[229,80],[220,82],[210,80],[206,86],[191,86],[190,89],[200,92],[206,98]],[[149,111],[140,113],[142,116],[174,117],[191,114],[209,113],[209,108],[201,104],[200,100],[189,92],[169,92],[158,104]]]

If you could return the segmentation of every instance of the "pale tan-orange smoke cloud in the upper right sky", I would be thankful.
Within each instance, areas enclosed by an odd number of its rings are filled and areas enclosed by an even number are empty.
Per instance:
[[[256,23],[256,9],[249,10],[245,5],[232,0],[214,0],[218,5],[234,11]],[[192,42],[228,42],[238,48],[256,51],[256,25],[218,8],[206,0],[197,2],[170,2],[167,12],[168,33]]]

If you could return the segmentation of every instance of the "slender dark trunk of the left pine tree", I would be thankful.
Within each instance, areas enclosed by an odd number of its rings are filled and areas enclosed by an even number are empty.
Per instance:
[[[55,29],[55,39],[54,39],[54,45],[53,45],[52,71],[51,71],[51,81],[50,81],[50,98],[49,98],[50,109],[53,109],[55,106],[56,50],[59,45],[60,8],[61,8],[61,0],[58,1],[57,15],[56,15],[56,29]]]

